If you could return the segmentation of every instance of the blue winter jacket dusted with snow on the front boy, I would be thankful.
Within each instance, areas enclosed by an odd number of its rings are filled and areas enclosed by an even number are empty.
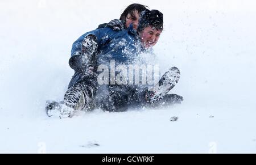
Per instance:
[[[131,25],[122,31],[113,31],[111,28],[100,28],[90,31],[79,37],[73,43],[71,50],[71,58],[81,54],[82,41],[85,36],[93,34],[97,37],[97,62],[100,64],[108,64],[110,60],[115,60],[115,64],[129,64],[141,52],[141,44],[137,32]],[[69,65],[72,69],[77,66]],[[76,65],[76,64],[75,64]],[[79,66],[78,66],[79,67]]]

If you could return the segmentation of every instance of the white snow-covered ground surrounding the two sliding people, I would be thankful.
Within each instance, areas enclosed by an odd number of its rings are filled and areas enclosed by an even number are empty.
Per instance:
[[[181,70],[168,109],[49,118],[73,41],[127,5],[164,14],[155,53]],[[256,153],[254,1],[0,1],[0,153]],[[177,116],[175,122],[171,117]]]

